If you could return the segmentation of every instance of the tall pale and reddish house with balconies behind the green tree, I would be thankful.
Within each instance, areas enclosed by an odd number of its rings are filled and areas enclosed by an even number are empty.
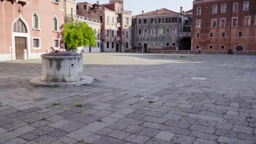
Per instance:
[[[106,4],[99,1],[95,4],[77,3],[77,15],[101,22],[101,51],[131,49],[131,12],[123,11],[123,0],[109,0]]]

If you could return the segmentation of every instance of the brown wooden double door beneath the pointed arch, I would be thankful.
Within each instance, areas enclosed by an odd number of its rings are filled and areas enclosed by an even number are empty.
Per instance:
[[[27,48],[26,37],[15,37],[15,55],[16,59],[24,58],[24,49]]]

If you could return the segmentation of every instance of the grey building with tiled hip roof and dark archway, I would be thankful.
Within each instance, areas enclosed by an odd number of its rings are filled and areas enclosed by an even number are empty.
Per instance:
[[[190,50],[191,23],[182,11],[166,8],[133,16],[133,49]]]

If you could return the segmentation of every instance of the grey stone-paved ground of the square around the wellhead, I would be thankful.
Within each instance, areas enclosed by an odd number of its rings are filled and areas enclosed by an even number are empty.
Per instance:
[[[29,85],[38,60],[0,63],[0,143],[255,144],[256,56],[185,57],[87,54],[96,82],[78,88]]]

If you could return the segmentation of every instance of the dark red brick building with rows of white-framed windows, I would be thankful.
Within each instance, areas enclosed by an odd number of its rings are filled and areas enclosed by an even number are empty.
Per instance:
[[[256,0],[195,0],[192,50],[256,51]]]

